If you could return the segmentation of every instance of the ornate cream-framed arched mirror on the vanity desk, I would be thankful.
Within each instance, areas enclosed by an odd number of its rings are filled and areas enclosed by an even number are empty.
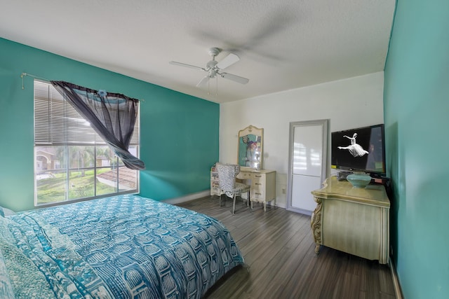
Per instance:
[[[252,169],[262,169],[263,160],[263,140],[264,130],[253,125],[239,131],[239,141],[237,147],[237,164],[241,167],[247,167]],[[255,158],[248,159],[248,153],[252,144],[257,145],[257,151],[253,153]],[[251,154],[250,154],[251,155]]]

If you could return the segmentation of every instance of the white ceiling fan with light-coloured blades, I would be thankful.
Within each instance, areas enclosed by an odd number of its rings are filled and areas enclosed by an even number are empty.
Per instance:
[[[217,76],[220,76],[222,78],[226,78],[226,79],[229,79],[234,82],[241,83],[241,84],[248,83],[249,79],[247,79],[247,78],[243,78],[241,76],[236,76],[233,74],[225,73],[222,71],[223,69],[226,69],[227,67],[231,66],[232,64],[238,62],[240,60],[240,58],[239,58],[239,56],[235,55],[234,53],[229,53],[229,55],[227,55],[227,57],[223,58],[223,60],[221,60],[220,62],[217,62],[215,60],[215,57],[218,54],[220,54],[221,51],[222,51],[222,49],[220,49],[220,48],[210,48],[209,49],[208,53],[210,56],[212,56],[212,60],[210,60],[206,64],[206,67],[196,67],[195,65],[192,65],[192,64],[185,64],[182,62],[175,62],[175,61],[170,61],[170,64],[179,65],[181,67],[189,67],[191,69],[199,69],[201,71],[206,71],[208,74],[206,76],[204,76],[204,78],[202,78],[198,84],[196,84],[197,87],[207,83],[209,81],[209,79],[211,79],[211,78],[217,78]]]

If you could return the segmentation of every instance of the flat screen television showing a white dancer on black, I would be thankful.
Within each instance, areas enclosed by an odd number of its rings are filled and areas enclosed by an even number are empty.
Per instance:
[[[333,169],[385,176],[384,125],[331,132]]]

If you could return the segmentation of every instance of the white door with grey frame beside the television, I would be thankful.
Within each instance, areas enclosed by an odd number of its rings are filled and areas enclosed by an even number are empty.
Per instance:
[[[287,209],[311,215],[316,207],[311,191],[326,179],[328,120],[290,123]]]

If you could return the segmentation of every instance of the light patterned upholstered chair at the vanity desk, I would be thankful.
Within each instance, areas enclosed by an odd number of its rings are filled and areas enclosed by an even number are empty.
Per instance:
[[[217,167],[218,183],[221,189],[220,207],[222,205],[222,194],[225,194],[227,197],[234,199],[232,203],[232,214],[234,214],[236,210],[236,197],[241,197],[242,193],[248,193],[246,197],[246,206],[248,207],[251,186],[236,181],[236,176],[240,172],[240,165],[217,163],[215,166]]]

